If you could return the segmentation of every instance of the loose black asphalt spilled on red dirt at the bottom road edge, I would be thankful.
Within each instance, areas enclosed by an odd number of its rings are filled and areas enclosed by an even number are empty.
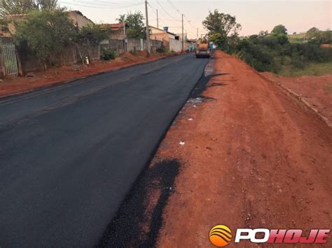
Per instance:
[[[120,205],[118,214],[106,228],[97,247],[153,247],[162,227],[162,212],[174,193],[179,170],[177,160],[160,161],[146,168]],[[153,189],[158,189],[160,195],[153,212],[146,214],[149,193]],[[148,231],[144,231],[144,225],[148,225]]]

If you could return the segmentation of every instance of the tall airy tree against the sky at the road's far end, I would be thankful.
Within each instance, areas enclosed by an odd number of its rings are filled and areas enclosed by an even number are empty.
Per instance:
[[[235,16],[219,13],[218,10],[213,13],[210,11],[202,24],[209,31],[209,39],[226,50],[237,41],[238,31],[241,29]]]

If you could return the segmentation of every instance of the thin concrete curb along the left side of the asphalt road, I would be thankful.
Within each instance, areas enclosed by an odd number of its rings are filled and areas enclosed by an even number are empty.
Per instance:
[[[118,66],[116,68],[106,69],[104,71],[98,71],[96,73],[92,73],[92,74],[89,74],[89,75],[84,75],[84,76],[79,77],[79,78],[71,78],[69,80],[62,80],[62,81],[51,82],[49,85],[43,85],[43,86],[40,86],[40,87],[28,89],[25,92],[17,92],[17,93],[13,93],[13,94],[8,94],[8,95],[0,96],[0,100],[4,100],[4,99],[10,98],[12,96],[19,96],[19,95],[27,94],[27,93],[38,91],[38,90],[41,90],[41,89],[48,89],[48,88],[51,88],[51,87],[55,87],[57,85],[65,85],[67,83],[75,82],[75,81],[78,81],[78,80],[81,80],[81,79],[85,79],[85,78],[92,78],[92,77],[94,77],[96,75],[102,75],[102,74],[105,74],[105,73],[111,73],[113,71],[120,71],[120,70],[125,69],[125,68],[130,68],[130,67],[134,67],[134,66],[140,66],[142,64],[153,63],[154,61],[158,61],[158,60],[161,60],[161,59],[167,59],[169,57],[175,57],[175,56],[179,56],[179,55],[181,55],[181,54],[172,54],[172,55],[161,57],[161,58],[158,58],[158,59],[155,59],[155,60],[152,60],[152,61],[141,61],[141,62],[138,62],[137,64],[128,64],[126,66]]]

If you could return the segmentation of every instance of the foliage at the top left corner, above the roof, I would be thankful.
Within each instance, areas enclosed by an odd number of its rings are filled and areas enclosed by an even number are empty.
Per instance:
[[[0,16],[27,14],[32,10],[55,10],[57,0],[0,0]]]

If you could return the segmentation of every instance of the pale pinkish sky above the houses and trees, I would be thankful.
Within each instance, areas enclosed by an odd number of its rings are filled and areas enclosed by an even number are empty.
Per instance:
[[[120,14],[140,10],[145,16],[144,0],[60,0],[61,6],[70,10],[80,10],[94,22],[115,23]],[[258,34],[261,30],[271,31],[277,24],[284,24],[292,34],[311,27],[321,30],[331,29],[332,0],[149,0],[148,19],[151,26],[157,25],[155,10],[158,9],[159,27],[168,26],[173,33],[181,32],[181,14],[184,13],[185,31],[189,38],[205,34],[202,20],[209,10],[218,9],[237,17],[242,24],[240,35]]]

